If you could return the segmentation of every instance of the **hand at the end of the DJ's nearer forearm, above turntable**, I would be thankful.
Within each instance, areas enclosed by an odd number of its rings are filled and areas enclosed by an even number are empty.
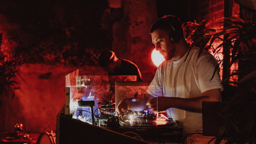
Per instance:
[[[170,97],[157,97],[147,101],[146,105],[153,111],[165,111],[170,108]]]

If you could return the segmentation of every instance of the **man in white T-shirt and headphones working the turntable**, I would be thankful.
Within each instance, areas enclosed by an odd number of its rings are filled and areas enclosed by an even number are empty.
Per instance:
[[[123,99],[116,114],[126,110],[151,108],[165,111],[173,120],[182,121],[183,136],[202,130],[202,101],[221,101],[221,80],[216,59],[206,51],[199,56],[199,48],[189,51],[180,20],[164,16],[150,29],[155,48],[166,59],[158,67],[144,98],[131,102]],[[199,56],[199,57],[198,57]]]

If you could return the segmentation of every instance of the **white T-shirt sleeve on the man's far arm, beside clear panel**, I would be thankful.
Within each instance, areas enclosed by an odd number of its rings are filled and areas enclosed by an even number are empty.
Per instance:
[[[162,96],[161,65],[158,67],[155,77],[150,83],[150,85],[148,86],[146,92],[154,97]]]

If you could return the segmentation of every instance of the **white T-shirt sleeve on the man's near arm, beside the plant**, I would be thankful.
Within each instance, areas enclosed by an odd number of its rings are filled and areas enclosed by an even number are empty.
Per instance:
[[[219,88],[223,90],[221,84],[221,78],[219,76],[219,68],[214,73],[215,67],[218,66],[217,60],[209,55],[201,56],[197,61],[197,74],[198,74],[198,83],[201,93]],[[214,73],[214,76],[213,76]],[[213,78],[212,78],[213,76]],[[212,78],[212,80],[211,80]]]

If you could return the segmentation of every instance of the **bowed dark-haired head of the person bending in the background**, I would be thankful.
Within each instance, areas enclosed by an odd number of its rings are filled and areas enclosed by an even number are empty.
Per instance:
[[[115,61],[117,61],[117,57],[113,51],[102,51],[98,58],[99,65],[101,67]]]

